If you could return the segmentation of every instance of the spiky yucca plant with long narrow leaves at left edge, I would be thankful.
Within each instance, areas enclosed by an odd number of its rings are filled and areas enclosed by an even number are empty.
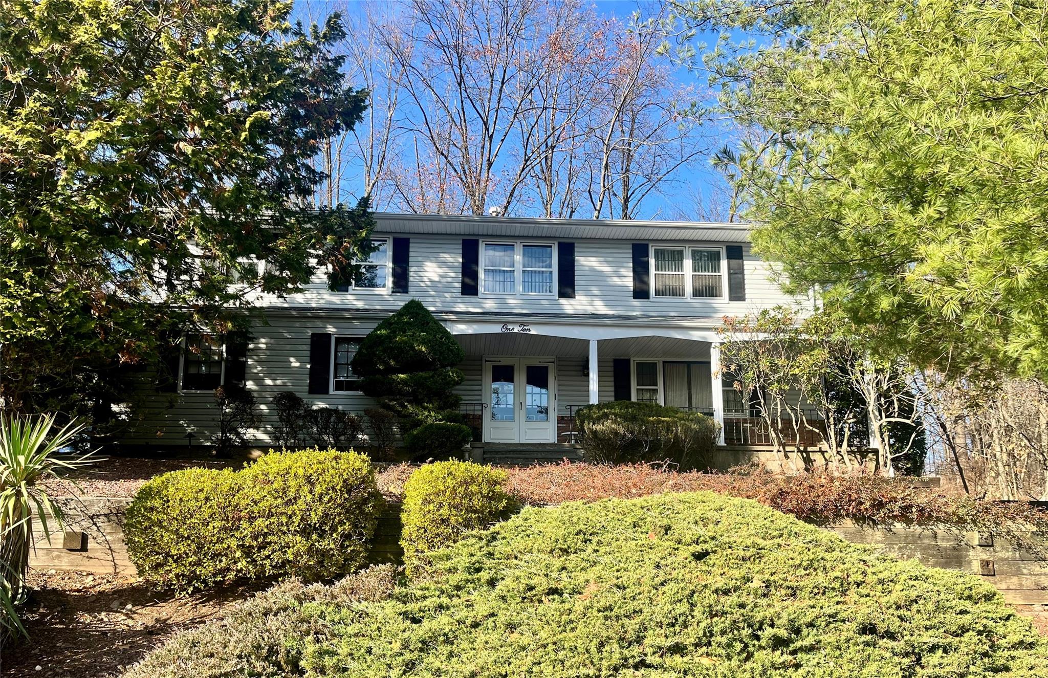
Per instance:
[[[54,415],[50,414],[0,416],[0,574],[10,603],[16,605],[25,593],[34,516],[48,542],[52,530],[64,524],[62,507],[48,496],[42,481],[56,478],[59,469],[94,461],[90,453],[60,456],[83,425],[69,423],[52,434],[53,428]],[[0,614],[3,607],[0,600]]]

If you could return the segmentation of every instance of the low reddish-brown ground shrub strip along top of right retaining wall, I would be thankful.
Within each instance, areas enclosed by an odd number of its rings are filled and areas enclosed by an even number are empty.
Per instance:
[[[749,466],[701,474],[665,465],[565,462],[514,468],[507,489],[524,503],[540,505],[705,489],[752,499],[818,525],[845,520],[941,525],[997,532],[1027,548],[1034,547],[1030,531],[1048,530],[1048,511],[1030,504],[952,496],[914,486],[913,479],[881,476],[780,476]]]

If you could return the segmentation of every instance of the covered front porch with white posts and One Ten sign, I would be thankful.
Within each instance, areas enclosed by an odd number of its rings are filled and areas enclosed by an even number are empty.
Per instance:
[[[700,412],[724,429],[725,386],[714,376],[720,366],[712,330],[520,322],[449,329],[465,352],[458,391],[478,442],[570,443],[578,408],[610,400]]]

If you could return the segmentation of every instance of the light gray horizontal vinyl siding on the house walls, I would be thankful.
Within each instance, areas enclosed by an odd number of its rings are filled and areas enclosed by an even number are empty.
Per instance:
[[[396,224],[395,219],[384,223]],[[598,233],[598,224],[587,225],[587,235]],[[522,227],[522,226],[518,226]],[[497,224],[492,225],[498,229]],[[671,229],[672,231],[672,229]],[[611,233],[611,231],[609,231]],[[714,233],[714,232],[708,232]],[[456,314],[480,314],[478,320],[505,322],[507,316],[527,314],[563,315],[578,324],[608,322],[602,315],[665,320],[700,319],[712,330],[724,315],[742,315],[795,300],[783,294],[770,278],[769,267],[741,243],[740,232],[724,242],[659,241],[665,245],[742,244],[746,270],[746,301],[729,303],[719,300],[633,299],[632,242],[642,240],[568,240],[575,243],[575,298],[524,296],[463,297],[461,294],[461,241],[457,235],[437,233],[401,234],[394,231],[376,237],[408,237],[411,258],[409,265],[410,293],[393,294],[388,290],[331,291],[326,280],[318,275],[302,292],[285,299],[259,296],[254,301],[261,308],[264,321],[253,330],[247,351],[246,386],[259,404],[260,424],[252,432],[253,444],[272,444],[276,423],[272,397],[281,391],[293,391],[312,406],[339,407],[363,413],[373,407],[363,394],[337,393],[309,395],[309,334],[328,332],[344,336],[364,336],[380,321],[410,299],[421,301],[438,318]],[[738,236],[738,237],[735,237]],[[473,237],[473,236],[468,236]],[[521,242],[558,242],[558,238],[485,238],[480,240],[511,240]],[[555,259],[554,259],[555,261]],[[726,262],[722,262],[726,266]],[[554,265],[555,268],[555,265]],[[616,319],[617,320],[617,319]],[[660,322],[659,324],[663,324]],[[694,322],[679,327],[694,328]],[[653,332],[656,334],[657,332]],[[460,365],[465,381],[456,391],[465,402],[482,402],[482,358],[487,356],[545,356],[556,359],[558,414],[566,414],[565,406],[589,401],[589,379],[584,374],[588,345],[585,341],[558,336],[473,335],[460,337],[466,348],[466,359]],[[612,358],[646,357],[667,359],[708,359],[708,345],[681,338],[637,336],[628,340],[601,342],[598,386],[599,399],[613,399]],[[206,444],[215,431],[214,396],[211,393],[161,394],[153,390],[152,380],[144,378],[137,398],[146,407],[124,442],[132,444],[184,445],[185,434],[194,434],[194,444]]]

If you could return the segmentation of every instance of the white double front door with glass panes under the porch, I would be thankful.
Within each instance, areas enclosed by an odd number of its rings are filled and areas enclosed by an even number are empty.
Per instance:
[[[556,442],[552,358],[484,358],[484,442]]]

